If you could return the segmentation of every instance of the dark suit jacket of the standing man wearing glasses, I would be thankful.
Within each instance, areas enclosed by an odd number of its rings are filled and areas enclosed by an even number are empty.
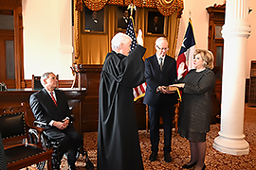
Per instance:
[[[167,105],[177,103],[176,93],[156,93],[158,86],[168,86],[174,84],[176,79],[176,61],[170,56],[165,57],[162,71],[158,64],[156,56],[145,59],[145,78],[147,89],[144,97],[144,104],[156,106],[159,102]]]

